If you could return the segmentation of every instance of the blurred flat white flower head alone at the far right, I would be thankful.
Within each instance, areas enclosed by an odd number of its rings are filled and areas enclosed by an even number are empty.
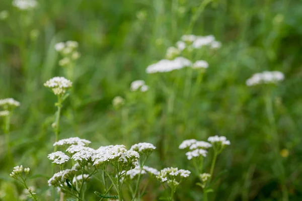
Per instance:
[[[246,84],[248,86],[258,85],[258,84],[270,84],[278,83],[284,79],[284,74],[280,71],[263,71],[260,73],[253,74]]]

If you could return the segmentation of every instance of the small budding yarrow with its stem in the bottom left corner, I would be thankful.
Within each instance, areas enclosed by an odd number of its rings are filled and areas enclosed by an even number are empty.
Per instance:
[[[23,168],[23,166],[16,166],[14,167],[12,173],[10,174],[10,176],[14,179],[16,179],[17,181],[19,181],[20,183],[23,184],[24,188],[28,190],[28,192],[30,193],[30,197],[33,200],[37,200],[37,195],[35,192],[33,192],[32,188],[29,188],[26,184],[26,177],[29,174],[30,169],[29,168]]]

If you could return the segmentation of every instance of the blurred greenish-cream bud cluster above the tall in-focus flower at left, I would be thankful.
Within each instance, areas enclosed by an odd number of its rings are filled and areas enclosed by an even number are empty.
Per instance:
[[[66,41],[55,44],[54,49],[58,51],[63,58],[59,61],[59,65],[63,67],[70,66],[72,61],[78,60],[81,56],[77,51],[79,43],[77,41]]]

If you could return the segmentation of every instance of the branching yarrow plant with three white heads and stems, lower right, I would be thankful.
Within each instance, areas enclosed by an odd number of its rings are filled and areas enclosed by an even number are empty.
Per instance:
[[[197,141],[195,139],[185,140],[179,145],[179,149],[189,149],[186,153],[188,160],[193,162],[195,168],[195,174],[198,176],[200,183],[197,183],[203,189],[203,200],[207,200],[207,193],[211,192],[212,189],[207,187],[207,184],[210,182],[210,178],[213,176],[213,171],[216,163],[218,154],[222,150],[230,145],[230,141],[224,136],[212,136],[208,138],[208,142]],[[207,157],[207,150],[212,148],[213,159],[210,167],[209,173],[203,172],[203,161]]]

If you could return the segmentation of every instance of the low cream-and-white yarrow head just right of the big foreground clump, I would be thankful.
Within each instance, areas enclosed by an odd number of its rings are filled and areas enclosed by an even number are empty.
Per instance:
[[[157,175],[157,179],[159,179],[161,182],[166,182],[166,181],[173,181],[174,179],[177,178],[177,176],[180,176],[181,179],[186,178],[190,175],[189,170],[184,170],[184,169],[178,169],[177,167],[167,167],[162,169],[159,174]]]

